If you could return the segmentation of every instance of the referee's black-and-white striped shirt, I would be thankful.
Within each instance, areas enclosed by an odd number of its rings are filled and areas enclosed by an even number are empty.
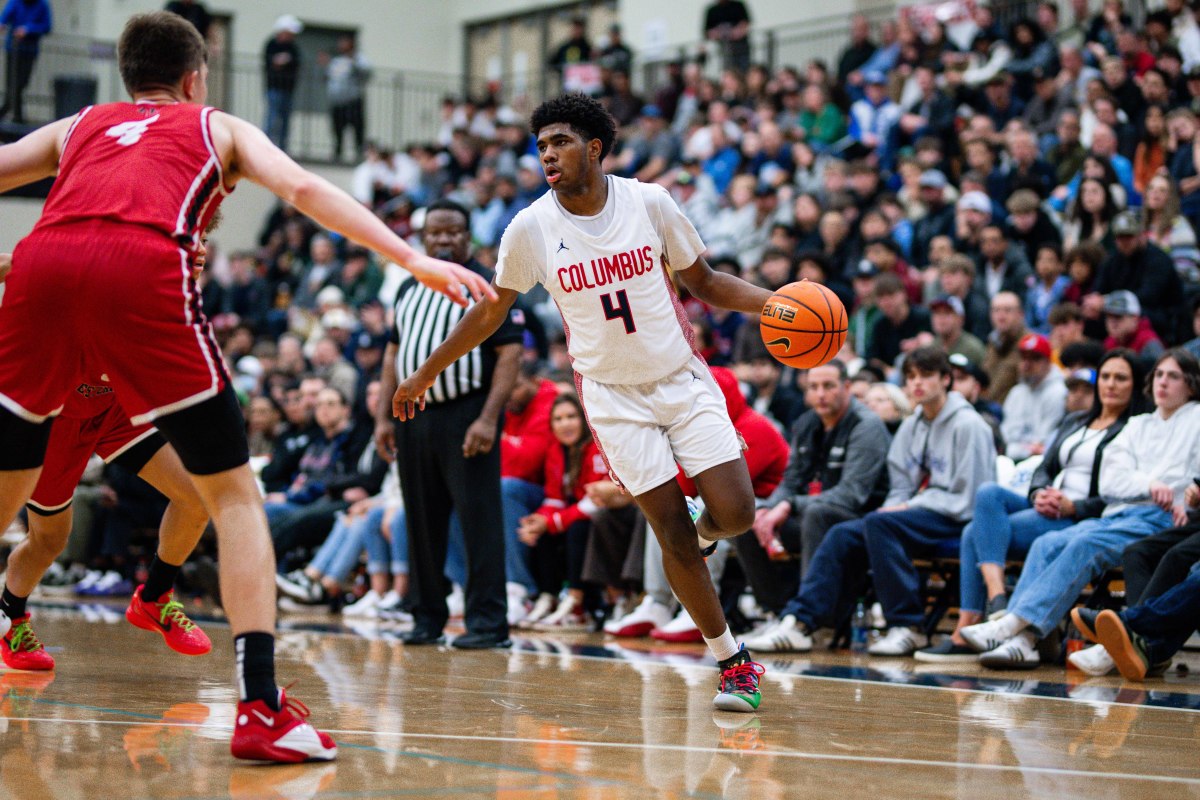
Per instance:
[[[492,271],[479,261],[472,259],[466,266],[491,282]],[[456,306],[444,294],[413,277],[406,278],[396,295],[396,323],[390,335],[390,341],[397,345],[396,379],[403,381],[416,372],[466,313],[467,308]],[[445,403],[487,391],[496,368],[496,349],[522,342],[523,315],[520,308],[514,307],[499,330],[437,377],[426,395],[426,403]]]

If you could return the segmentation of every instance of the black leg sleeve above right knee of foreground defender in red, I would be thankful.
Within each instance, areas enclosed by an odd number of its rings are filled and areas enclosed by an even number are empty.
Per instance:
[[[250,461],[246,421],[232,386],[203,403],[158,417],[155,426],[192,475],[216,475]]]

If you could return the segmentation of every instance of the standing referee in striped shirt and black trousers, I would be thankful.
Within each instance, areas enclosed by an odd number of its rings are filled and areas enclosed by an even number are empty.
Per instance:
[[[425,251],[478,272],[492,271],[470,258],[469,215],[457,203],[428,206],[421,241]],[[384,355],[382,397],[396,393],[397,377],[408,378],[442,344],[466,308],[413,278],[396,296],[396,323]],[[438,377],[426,396],[426,413],[400,425],[391,404],[380,403],[376,441],[395,457],[408,519],[408,599],[415,625],[406,644],[443,640],[449,612],[445,579],[450,512],[462,527],[467,551],[467,633],[456,648],[510,644],[504,587],[504,517],[500,501],[500,411],[516,384],[523,314],[510,318]]]

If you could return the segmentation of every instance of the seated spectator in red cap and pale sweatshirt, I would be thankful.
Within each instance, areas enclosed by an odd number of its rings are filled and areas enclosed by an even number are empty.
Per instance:
[[[1067,413],[1067,384],[1050,362],[1050,341],[1040,333],[1026,333],[1016,344],[1021,356],[1018,383],[1004,398],[1000,432],[1013,461],[1040,456]]]

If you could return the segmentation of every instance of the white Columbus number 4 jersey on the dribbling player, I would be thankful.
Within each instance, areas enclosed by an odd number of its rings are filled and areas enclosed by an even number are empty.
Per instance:
[[[546,192],[500,239],[496,282],[541,283],[558,303],[566,349],[581,375],[647,384],[682,368],[695,350],[666,266],[684,270],[704,243],[661,186],[608,176],[608,199],[578,217]]]

